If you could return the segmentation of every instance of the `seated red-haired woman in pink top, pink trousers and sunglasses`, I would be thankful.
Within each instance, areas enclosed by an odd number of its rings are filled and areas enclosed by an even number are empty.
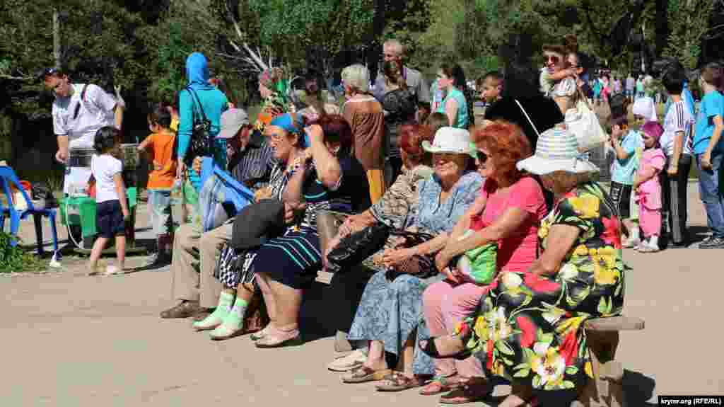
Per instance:
[[[507,122],[495,122],[475,135],[478,171],[486,178],[480,196],[460,217],[445,248],[435,262],[446,279],[430,285],[423,295],[425,320],[430,335],[453,333],[455,325],[471,314],[486,285],[466,280],[448,267],[455,256],[486,243],[497,242],[497,271],[525,272],[538,253],[538,227],[546,215],[542,188],[515,164],[531,156],[531,145],[521,129]],[[475,233],[459,240],[467,230]],[[480,400],[487,385],[478,359],[464,361],[435,359],[435,378],[421,394],[442,396],[442,403]]]

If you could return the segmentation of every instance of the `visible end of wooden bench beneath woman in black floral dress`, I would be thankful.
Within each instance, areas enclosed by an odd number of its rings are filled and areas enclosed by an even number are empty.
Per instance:
[[[626,407],[623,366],[615,361],[619,331],[644,329],[644,320],[631,316],[591,319],[585,324],[594,378],[581,389],[571,407]]]

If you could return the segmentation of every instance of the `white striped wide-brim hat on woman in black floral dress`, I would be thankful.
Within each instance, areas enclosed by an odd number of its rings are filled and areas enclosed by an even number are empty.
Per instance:
[[[546,175],[556,171],[576,174],[599,172],[598,167],[578,152],[576,136],[560,128],[544,131],[536,143],[536,153],[518,161],[516,167],[535,175]]]

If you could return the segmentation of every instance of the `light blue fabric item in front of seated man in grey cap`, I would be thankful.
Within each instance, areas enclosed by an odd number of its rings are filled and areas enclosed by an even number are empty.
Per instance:
[[[214,159],[203,157],[198,205],[204,232],[223,225],[253,202],[254,193],[249,188],[214,164]]]

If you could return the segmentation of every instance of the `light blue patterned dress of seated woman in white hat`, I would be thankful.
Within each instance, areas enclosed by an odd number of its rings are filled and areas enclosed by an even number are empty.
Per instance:
[[[440,201],[442,186],[437,175],[418,183],[418,204],[408,229],[439,235],[451,232],[458,218],[465,213],[479,194],[483,179],[477,172],[460,177],[445,201]],[[442,277],[420,279],[400,274],[387,280],[386,269],[379,269],[367,283],[348,334],[349,340],[381,340],[384,350],[399,355],[403,344],[417,331],[418,339],[429,337],[424,324],[422,293],[428,285]],[[425,353],[416,349],[413,360],[415,374],[434,374],[434,364]]]

